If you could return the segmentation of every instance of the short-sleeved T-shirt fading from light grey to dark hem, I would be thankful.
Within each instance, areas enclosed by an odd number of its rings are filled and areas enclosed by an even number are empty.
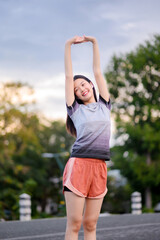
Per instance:
[[[67,105],[66,105],[67,106]],[[99,101],[87,105],[76,100],[67,112],[77,131],[71,157],[110,160],[111,102],[99,96]]]

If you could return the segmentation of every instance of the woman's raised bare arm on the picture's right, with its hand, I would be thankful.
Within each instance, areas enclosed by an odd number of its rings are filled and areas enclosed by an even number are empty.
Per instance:
[[[100,67],[100,54],[96,38],[84,36],[84,41],[90,41],[93,44],[93,73],[98,86],[99,94],[108,102],[110,95],[107,87],[106,80],[101,72]]]

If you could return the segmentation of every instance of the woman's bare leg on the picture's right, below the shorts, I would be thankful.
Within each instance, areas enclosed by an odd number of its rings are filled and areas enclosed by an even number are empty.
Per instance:
[[[83,217],[84,239],[96,240],[96,225],[101,211],[103,198],[86,198]]]

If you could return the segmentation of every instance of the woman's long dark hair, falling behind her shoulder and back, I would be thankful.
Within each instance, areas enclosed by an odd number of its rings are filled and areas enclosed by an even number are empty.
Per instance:
[[[75,75],[73,77],[73,80],[77,80],[79,78],[83,78],[84,80],[86,80],[87,82],[89,83],[92,83],[91,80],[89,80],[87,77],[83,76],[83,75]],[[93,83],[92,83],[93,84]],[[93,94],[94,94],[94,98],[97,102],[97,95],[96,95],[96,90],[95,90],[95,87],[93,85]],[[75,94],[74,94],[75,95]],[[79,103],[79,104],[84,104],[82,100],[78,99],[77,96],[75,95],[75,100]],[[66,119],[66,129],[67,129],[67,132],[69,134],[71,134],[73,137],[76,137],[77,136],[77,133],[76,133],[76,129],[75,129],[75,126],[74,126],[74,123],[72,122],[72,119],[69,117],[69,115],[67,114],[67,119]]]

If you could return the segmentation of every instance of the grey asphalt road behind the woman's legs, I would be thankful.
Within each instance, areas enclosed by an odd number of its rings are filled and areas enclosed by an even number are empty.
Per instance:
[[[66,218],[0,223],[0,240],[64,240]],[[79,240],[83,239],[83,230]],[[97,240],[160,240],[160,213],[101,216]]]

